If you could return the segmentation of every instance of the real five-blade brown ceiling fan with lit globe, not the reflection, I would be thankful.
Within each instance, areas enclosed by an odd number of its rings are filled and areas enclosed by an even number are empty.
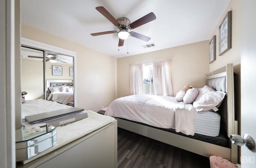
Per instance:
[[[130,20],[124,17],[118,18],[116,20],[103,6],[96,7],[96,10],[98,10],[109,21],[111,21],[118,28],[118,31],[113,30],[113,31],[104,31],[99,33],[91,33],[92,36],[117,33],[119,37],[119,42],[118,42],[119,47],[124,45],[124,40],[127,39],[129,36],[132,36],[144,41],[149,41],[151,39],[150,37],[147,37],[140,33],[136,33],[134,31],[129,32],[128,30],[135,29],[136,27],[139,27],[150,21],[155,20],[156,16],[153,12],[150,12],[149,14],[143,16],[142,18],[130,23]]]

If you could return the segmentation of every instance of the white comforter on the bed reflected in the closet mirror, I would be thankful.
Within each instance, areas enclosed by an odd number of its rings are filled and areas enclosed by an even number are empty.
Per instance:
[[[47,100],[52,100],[61,104],[73,103],[73,92],[51,92]]]

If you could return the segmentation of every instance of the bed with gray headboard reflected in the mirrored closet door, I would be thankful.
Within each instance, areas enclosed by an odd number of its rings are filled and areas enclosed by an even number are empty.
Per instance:
[[[64,105],[74,105],[73,80],[46,80],[46,99]]]

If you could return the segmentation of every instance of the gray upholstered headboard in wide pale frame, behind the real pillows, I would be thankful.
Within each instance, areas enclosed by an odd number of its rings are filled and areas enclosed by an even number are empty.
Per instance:
[[[221,127],[227,136],[235,133],[234,120],[234,71],[233,64],[226,64],[206,74],[206,85],[216,91],[226,92],[226,96],[219,107],[221,115]]]

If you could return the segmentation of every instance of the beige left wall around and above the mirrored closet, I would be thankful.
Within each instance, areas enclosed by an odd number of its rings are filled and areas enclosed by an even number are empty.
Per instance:
[[[98,111],[116,98],[116,58],[26,25],[22,37],[76,52],[77,107]]]

